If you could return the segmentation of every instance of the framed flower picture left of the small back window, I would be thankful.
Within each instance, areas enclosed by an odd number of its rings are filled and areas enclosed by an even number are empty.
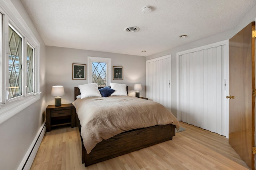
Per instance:
[[[72,79],[86,80],[86,64],[72,64]]]

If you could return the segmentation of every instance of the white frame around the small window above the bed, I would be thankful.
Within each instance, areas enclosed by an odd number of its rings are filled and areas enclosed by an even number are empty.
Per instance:
[[[111,58],[103,58],[103,57],[90,57],[88,56],[87,59],[87,63],[88,63],[88,68],[87,68],[87,73],[88,73],[88,83],[92,83],[92,62],[98,62],[98,63],[107,63],[107,79],[106,79],[106,83],[107,86],[110,86],[110,82],[112,79],[112,63],[111,63]]]

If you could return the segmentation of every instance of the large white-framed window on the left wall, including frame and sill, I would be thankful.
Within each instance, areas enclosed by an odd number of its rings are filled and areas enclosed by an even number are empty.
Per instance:
[[[40,43],[11,1],[0,1],[0,124],[40,99]]]

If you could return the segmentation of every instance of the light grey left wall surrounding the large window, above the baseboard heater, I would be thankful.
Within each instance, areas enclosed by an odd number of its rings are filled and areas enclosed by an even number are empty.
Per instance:
[[[41,99],[0,124],[0,169],[16,170],[45,120],[46,47],[20,0],[11,0],[40,42]]]

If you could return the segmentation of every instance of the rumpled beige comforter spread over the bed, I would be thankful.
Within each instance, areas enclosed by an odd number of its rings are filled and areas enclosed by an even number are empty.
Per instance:
[[[88,97],[73,102],[81,124],[81,136],[87,153],[101,142],[121,132],[172,124],[176,117],[163,105],[136,97]]]

